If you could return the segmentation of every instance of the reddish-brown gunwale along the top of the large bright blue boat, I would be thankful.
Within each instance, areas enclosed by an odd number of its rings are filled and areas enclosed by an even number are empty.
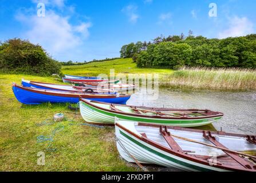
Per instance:
[[[31,87],[19,86],[16,83],[13,84],[13,87],[18,87],[19,89],[22,89],[22,90],[26,90],[26,91],[33,92],[33,93],[45,94],[45,95],[48,95],[48,96],[73,97],[73,98],[82,98],[82,97],[84,97],[84,98],[90,98],[90,97],[93,97],[93,98],[131,97],[131,95],[128,95],[128,94],[119,94],[119,97],[117,97],[116,94],[95,94],[95,93],[84,94],[84,93],[79,93],[79,92],[66,92],[66,91],[61,91],[61,90],[56,92],[55,90],[38,89],[38,88],[34,89],[34,88],[31,88]],[[45,92],[41,91],[41,90],[45,90]],[[47,90],[47,92],[46,92],[46,90]],[[62,92],[62,93],[60,93],[60,92]]]

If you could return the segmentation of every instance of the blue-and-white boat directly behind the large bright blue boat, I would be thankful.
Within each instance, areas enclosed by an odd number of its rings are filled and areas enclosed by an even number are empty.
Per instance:
[[[26,87],[36,87],[40,89],[49,89],[49,90],[62,90],[68,92],[86,92],[86,93],[115,93],[112,89],[97,89],[94,87],[85,87],[85,86],[72,86],[72,85],[60,85],[48,82],[36,82],[28,81],[22,79],[22,86]]]

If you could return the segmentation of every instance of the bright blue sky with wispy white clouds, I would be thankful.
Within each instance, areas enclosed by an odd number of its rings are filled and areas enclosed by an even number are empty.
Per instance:
[[[0,40],[29,39],[60,61],[119,57],[129,42],[192,30],[208,38],[255,33],[256,1],[0,0]],[[38,10],[44,3],[45,16]],[[216,5],[216,17],[209,11]],[[212,12],[212,11],[211,11]],[[42,13],[40,11],[39,13]]]

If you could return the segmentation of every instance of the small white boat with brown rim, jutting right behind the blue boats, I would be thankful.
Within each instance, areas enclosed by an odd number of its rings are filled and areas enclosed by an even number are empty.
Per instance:
[[[113,89],[116,91],[124,92],[128,90],[135,90],[136,85],[133,84],[124,84],[124,83],[93,83],[93,82],[82,82],[85,84],[85,86],[88,87],[97,87],[97,88],[104,88],[104,89]]]

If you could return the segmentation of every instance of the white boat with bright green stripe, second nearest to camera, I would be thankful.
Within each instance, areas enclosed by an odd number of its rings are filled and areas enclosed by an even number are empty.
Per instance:
[[[223,116],[223,113],[207,109],[148,108],[109,104],[82,98],[80,98],[80,113],[89,123],[114,125],[117,117],[120,120],[181,127],[211,124]]]

